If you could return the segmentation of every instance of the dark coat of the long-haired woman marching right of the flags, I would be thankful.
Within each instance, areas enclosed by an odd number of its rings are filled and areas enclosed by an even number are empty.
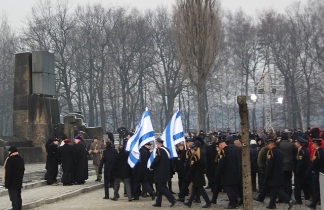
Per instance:
[[[186,180],[192,182],[193,187],[201,187],[206,185],[205,173],[204,173],[204,161],[196,154],[190,158],[190,169],[186,174]]]

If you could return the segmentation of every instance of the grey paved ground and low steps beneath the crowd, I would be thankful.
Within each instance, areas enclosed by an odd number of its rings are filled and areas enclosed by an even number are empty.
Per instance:
[[[89,162],[90,170],[92,168],[92,161]],[[87,180],[85,185],[74,185],[74,186],[47,186],[45,181],[42,180],[42,176],[39,174],[45,173],[44,168],[45,164],[26,164],[26,174],[29,173],[28,182],[24,183],[24,187],[29,189],[22,190],[22,199],[23,199],[23,209],[45,209],[45,210],[54,210],[54,209],[170,209],[170,203],[164,197],[162,202],[162,207],[156,208],[152,204],[154,201],[150,197],[143,198],[141,197],[139,201],[128,202],[127,197],[120,197],[117,201],[102,199],[104,195],[103,182],[98,183],[94,180],[96,179],[94,171],[90,171],[90,177]],[[2,176],[2,169],[0,167],[0,176]],[[37,177],[41,179],[37,179]],[[177,177],[173,179],[173,189],[177,189]],[[29,186],[29,187],[27,187]],[[174,190],[178,192],[177,190]],[[0,209],[10,209],[11,202],[7,190],[4,187],[0,186]],[[212,196],[210,190],[207,191],[209,197]],[[112,188],[109,188],[109,194],[113,195]],[[119,190],[119,194],[123,194],[123,184]],[[254,194],[256,196],[257,193]],[[213,204],[210,209],[223,209],[227,205],[228,201],[226,200],[227,196],[225,193],[220,193],[217,204]],[[203,203],[197,204],[193,203],[190,209],[201,209]],[[266,209],[265,206],[268,205],[269,198],[266,198],[264,203],[254,201],[254,209]],[[44,203],[44,204],[42,204]],[[45,204],[49,203],[49,204]],[[295,205],[292,209],[308,209],[305,206],[305,201],[302,205]],[[188,209],[187,206],[178,202],[174,209]],[[277,209],[287,209],[288,204],[277,204]],[[243,206],[238,207],[237,209],[244,209]],[[317,206],[317,209],[320,209],[320,206]]]

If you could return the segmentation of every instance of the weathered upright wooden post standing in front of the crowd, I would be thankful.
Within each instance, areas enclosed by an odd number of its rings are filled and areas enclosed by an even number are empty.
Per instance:
[[[251,159],[249,138],[249,116],[247,96],[237,96],[239,117],[242,130],[242,176],[243,176],[243,204],[244,209],[253,209],[252,181],[251,181]]]

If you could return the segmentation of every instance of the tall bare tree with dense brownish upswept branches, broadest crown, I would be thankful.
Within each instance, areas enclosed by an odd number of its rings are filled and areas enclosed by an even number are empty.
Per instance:
[[[199,128],[206,130],[204,87],[223,42],[216,0],[179,0],[174,11],[176,41],[184,75],[197,90]]]

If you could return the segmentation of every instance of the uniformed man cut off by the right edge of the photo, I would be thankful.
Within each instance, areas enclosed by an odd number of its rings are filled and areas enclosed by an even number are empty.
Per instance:
[[[312,147],[315,150],[314,156],[312,159],[312,163],[310,164],[306,175],[310,175],[312,171],[315,172],[315,180],[314,180],[314,188],[315,191],[313,193],[312,202],[307,207],[311,209],[316,209],[316,205],[320,198],[320,191],[319,191],[319,173],[324,173],[324,150],[321,148],[321,139],[313,138]]]

